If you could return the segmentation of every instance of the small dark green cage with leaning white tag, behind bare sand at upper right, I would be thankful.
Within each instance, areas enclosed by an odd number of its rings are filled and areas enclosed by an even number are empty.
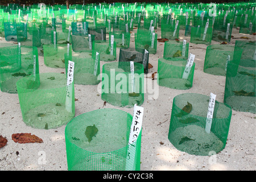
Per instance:
[[[190,37],[191,43],[210,45],[212,43],[212,27],[208,26],[206,32],[205,27],[191,27]]]

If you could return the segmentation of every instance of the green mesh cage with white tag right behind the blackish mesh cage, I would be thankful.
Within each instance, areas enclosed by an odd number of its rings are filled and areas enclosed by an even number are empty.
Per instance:
[[[155,54],[158,44],[158,34],[149,30],[138,29],[135,33],[135,48],[147,49],[150,54]]]

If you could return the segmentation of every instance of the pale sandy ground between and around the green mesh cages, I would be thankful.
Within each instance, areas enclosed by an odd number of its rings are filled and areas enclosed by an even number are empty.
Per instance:
[[[134,32],[131,34],[130,47],[134,47]],[[160,28],[156,30],[160,38]],[[247,36],[255,40],[254,35],[239,34],[233,29],[234,38]],[[180,39],[190,38],[184,36],[180,30]],[[236,40],[229,43],[234,45]],[[244,39],[243,39],[244,40]],[[1,43],[5,42],[2,38]],[[220,44],[212,41],[212,44]],[[175,90],[159,86],[159,96],[149,100],[150,94],[144,94],[144,118],[141,142],[141,170],[255,170],[255,114],[232,110],[232,119],[229,127],[228,140],[224,150],[213,156],[189,155],[177,150],[168,140],[168,131],[172,111],[172,101],[181,93],[200,93],[209,96],[210,92],[217,95],[216,100],[224,101],[225,77],[214,76],[203,72],[205,52],[204,44],[189,43],[189,53],[195,57],[195,73],[193,86],[188,90]],[[158,59],[163,56],[164,43],[158,42],[157,52],[150,55],[148,76],[158,70]],[[117,49],[117,60],[119,49]],[[106,62],[101,62],[102,65]],[[43,57],[39,57],[39,72],[64,72],[64,69],[49,68],[44,65]],[[102,69],[101,69],[102,71]],[[145,81],[151,78],[145,78]],[[97,96],[98,85],[75,85],[76,114],[101,109],[104,101]],[[19,106],[18,94],[0,92],[0,135],[6,137],[8,143],[0,148],[0,170],[68,170],[67,155],[65,150],[65,126],[57,129],[40,130],[26,126],[23,122]],[[104,108],[116,108],[133,114],[133,108],[115,107],[106,104]],[[2,114],[4,113],[4,114]],[[43,143],[15,143],[11,139],[13,133],[31,133],[43,139]],[[43,160],[45,159],[45,163]]]

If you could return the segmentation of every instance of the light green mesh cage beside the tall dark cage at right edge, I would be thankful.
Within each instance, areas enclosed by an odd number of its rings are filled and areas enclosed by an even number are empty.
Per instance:
[[[204,60],[204,72],[211,75],[226,76],[230,61],[240,62],[242,49],[234,51],[234,46],[210,45],[207,47]]]

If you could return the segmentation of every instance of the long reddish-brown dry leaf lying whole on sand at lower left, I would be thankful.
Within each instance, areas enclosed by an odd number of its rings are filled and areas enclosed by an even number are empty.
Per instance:
[[[31,133],[15,133],[11,135],[15,143],[43,143],[43,140]]]

